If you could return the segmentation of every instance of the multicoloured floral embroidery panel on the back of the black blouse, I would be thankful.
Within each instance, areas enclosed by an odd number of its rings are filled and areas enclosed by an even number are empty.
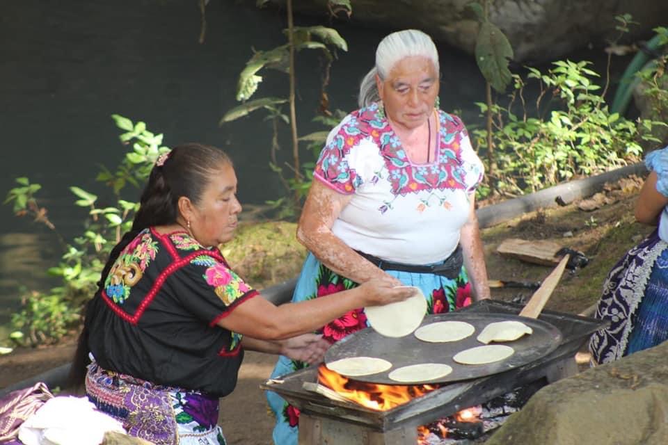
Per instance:
[[[157,252],[157,241],[153,241],[148,230],[127,245],[109,271],[104,285],[106,294],[113,302],[122,305],[127,300],[130,288],[141,280],[144,270],[155,259]]]

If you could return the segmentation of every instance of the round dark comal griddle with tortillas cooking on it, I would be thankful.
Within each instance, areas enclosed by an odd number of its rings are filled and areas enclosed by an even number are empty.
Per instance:
[[[466,365],[455,362],[452,357],[465,349],[484,346],[476,337],[489,323],[516,320],[532,327],[532,334],[525,334],[514,341],[492,342],[511,346],[515,352],[507,359],[498,362]],[[441,378],[416,383],[456,382],[480,378],[500,373],[533,362],[555,350],[562,341],[562,333],[557,327],[536,318],[521,317],[513,314],[474,314],[467,312],[448,312],[447,314],[427,315],[422,325],[438,321],[465,321],[475,327],[475,332],[466,339],[444,343],[429,343],[415,337],[415,333],[405,337],[383,337],[367,327],[334,343],[325,354],[325,363],[349,357],[378,357],[392,363],[392,368],[382,373],[357,375],[354,380],[383,383],[386,385],[406,385],[390,380],[388,374],[401,366],[420,363],[443,363],[452,366],[452,373]]]

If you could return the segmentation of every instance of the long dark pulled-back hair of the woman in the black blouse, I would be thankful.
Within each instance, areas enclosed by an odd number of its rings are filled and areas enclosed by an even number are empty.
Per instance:
[[[188,143],[174,147],[166,156],[153,166],[139,200],[139,210],[132,221],[132,229],[125,233],[109,254],[100,281],[97,282],[97,293],[104,288],[104,282],[120,252],[147,227],[173,225],[179,215],[178,202],[182,196],[197,205],[209,184],[211,176],[221,164],[232,164],[230,157],[223,150],[211,145]],[[86,313],[93,302],[86,304]],[[88,316],[86,316],[88,318]],[[70,371],[70,386],[77,387],[84,382],[88,359],[88,325],[84,321],[84,329],[79,335],[77,352],[74,353]]]

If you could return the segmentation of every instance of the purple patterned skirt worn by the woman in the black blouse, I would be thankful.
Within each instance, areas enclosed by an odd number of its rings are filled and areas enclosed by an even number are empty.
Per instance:
[[[88,366],[86,394],[133,437],[156,445],[225,445],[218,398],[106,371],[95,361]]]

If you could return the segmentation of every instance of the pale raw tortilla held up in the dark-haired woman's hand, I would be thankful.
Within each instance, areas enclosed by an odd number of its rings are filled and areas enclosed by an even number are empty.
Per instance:
[[[364,308],[367,320],[376,332],[385,337],[404,337],[420,326],[424,314],[427,314],[427,300],[419,288],[413,288],[413,295],[403,301],[384,306]]]

